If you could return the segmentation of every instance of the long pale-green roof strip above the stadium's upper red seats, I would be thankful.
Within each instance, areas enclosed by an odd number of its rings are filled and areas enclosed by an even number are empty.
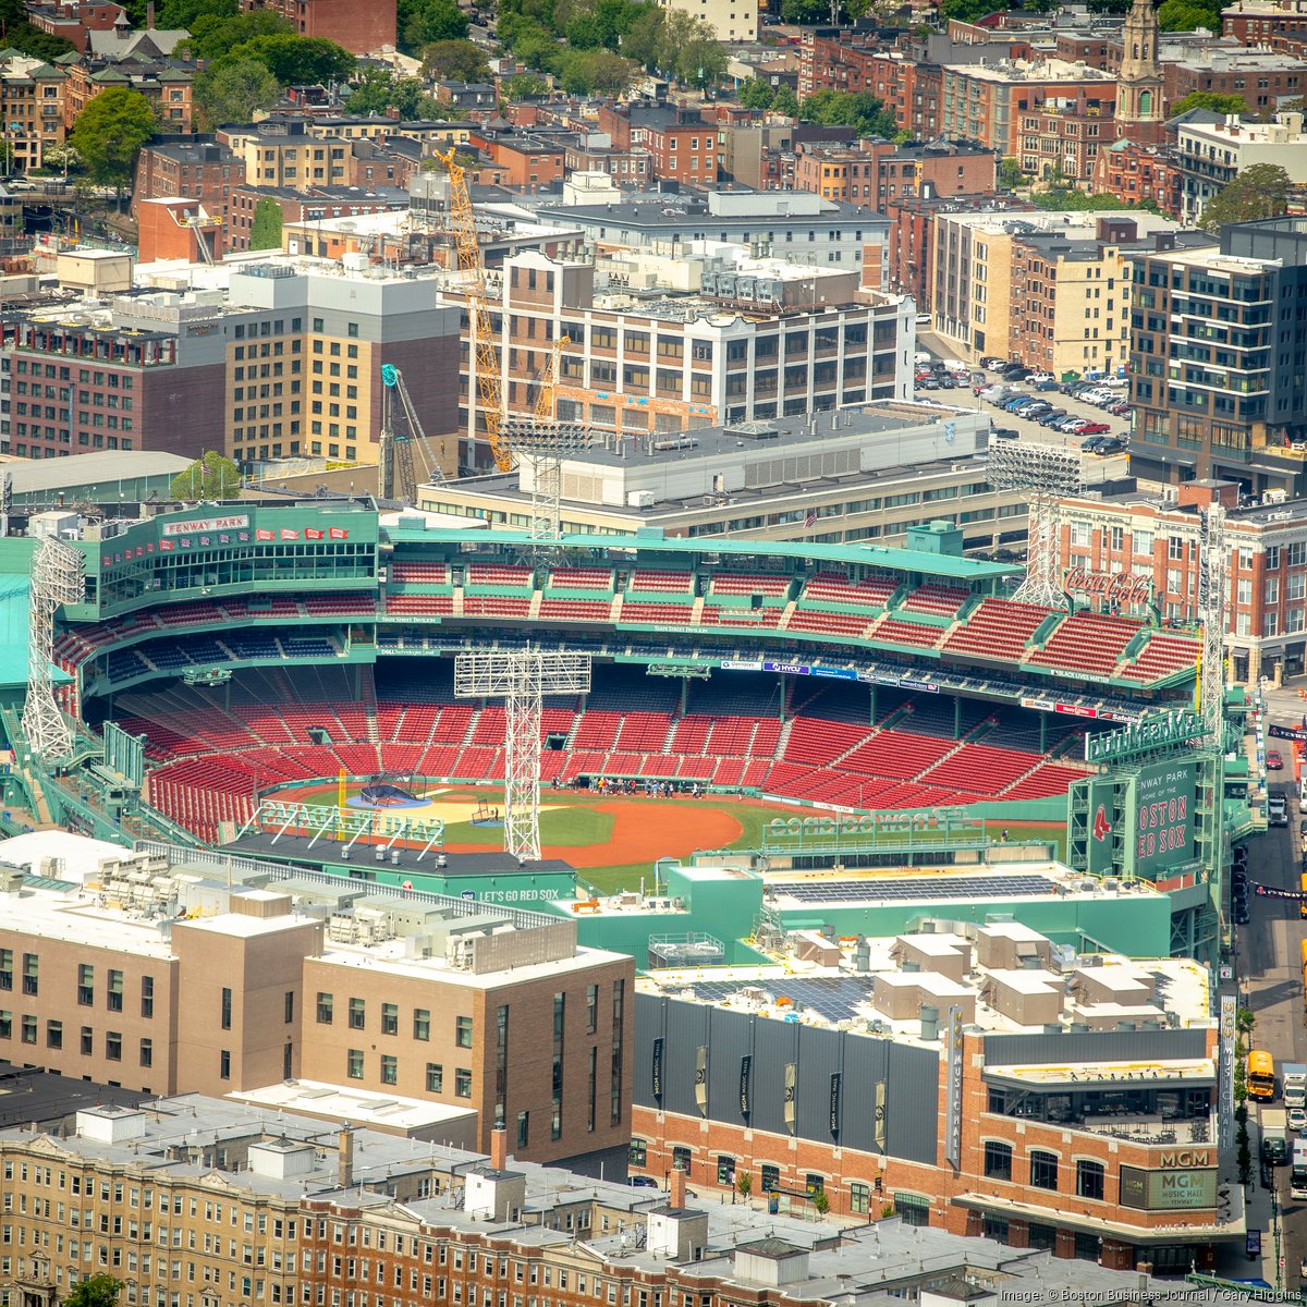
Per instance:
[[[506,546],[531,544],[525,531],[429,531],[412,529],[403,525],[387,528],[387,535],[401,540],[430,540],[435,544],[469,544],[481,546]],[[559,544],[565,549],[593,552],[596,549],[620,549],[630,553],[663,552],[682,554],[732,554],[745,558],[814,558],[825,562],[863,563],[870,567],[886,567],[890,571],[921,572],[931,576],[950,576],[955,580],[992,580],[997,576],[1016,575],[1022,571],[1012,563],[991,563],[979,558],[958,558],[953,554],[932,554],[920,549],[887,549],[885,545],[809,545],[793,541],[772,540],[724,540],[719,536],[685,540],[681,537],[634,535],[634,536],[591,536],[565,535]]]

